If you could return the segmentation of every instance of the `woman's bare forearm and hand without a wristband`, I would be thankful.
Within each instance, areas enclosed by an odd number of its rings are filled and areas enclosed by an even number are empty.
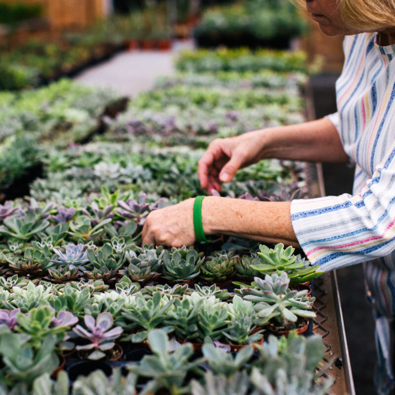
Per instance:
[[[347,163],[333,123],[318,119],[297,125],[279,126],[214,140],[199,160],[201,187],[221,190],[237,170],[263,158]]]

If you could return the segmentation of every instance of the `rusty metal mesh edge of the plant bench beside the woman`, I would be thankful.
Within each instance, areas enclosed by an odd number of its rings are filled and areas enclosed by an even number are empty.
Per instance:
[[[324,196],[321,165],[307,164],[306,175],[309,196]],[[323,360],[320,374],[333,377],[334,384],[330,394],[355,395],[336,271],[328,272],[316,279],[314,292],[317,317],[313,321],[313,331],[322,337],[328,353],[328,357]]]

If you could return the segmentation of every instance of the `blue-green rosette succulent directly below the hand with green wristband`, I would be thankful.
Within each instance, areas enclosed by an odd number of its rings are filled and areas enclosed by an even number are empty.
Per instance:
[[[194,279],[200,273],[202,255],[195,249],[166,250],[163,255],[163,277],[175,282]]]

